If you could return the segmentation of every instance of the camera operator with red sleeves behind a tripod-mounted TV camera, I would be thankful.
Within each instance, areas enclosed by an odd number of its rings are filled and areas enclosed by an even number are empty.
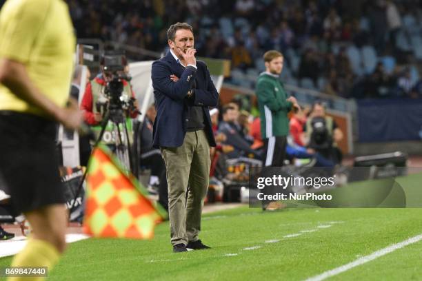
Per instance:
[[[118,65],[120,62],[121,65]],[[110,113],[110,120],[106,125],[101,143],[115,145],[117,133],[112,121],[120,119],[117,123],[119,123],[121,136],[124,139],[123,118],[125,118],[129,141],[132,143],[133,129],[130,118],[138,116],[138,108],[129,82],[130,77],[125,73],[128,63],[123,55],[103,54],[100,67],[101,74],[86,85],[86,90],[83,94],[81,110],[84,111],[85,122],[92,126],[96,137],[99,138],[101,121],[103,121],[107,113]],[[110,108],[116,110],[110,112]]]

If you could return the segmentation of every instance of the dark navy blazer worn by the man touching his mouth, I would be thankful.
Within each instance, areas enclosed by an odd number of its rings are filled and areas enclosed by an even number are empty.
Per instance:
[[[152,132],[153,147],[179,147],[183,144],[192,102],[202,107],[208,143],[213,147],[216,145],[208,107],[217,106],[219,93],[212,83],[207,65],[197,60],[197,67],[197,70],[192,66],[184,68],[170,52],[152,63],[152,87],[157,108]],[[172,74],[179,77],[179,81],[170,80]],[[194,100],[188,101],[186,95],[194,84]]]

